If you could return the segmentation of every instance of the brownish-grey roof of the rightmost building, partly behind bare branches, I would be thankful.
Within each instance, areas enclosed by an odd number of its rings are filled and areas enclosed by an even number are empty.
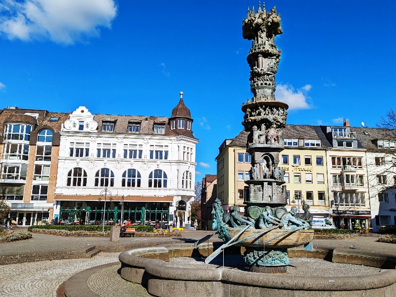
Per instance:
[[[358,142],[368,150],[379,150],[377,140],[396,140],[396,130],[393,129],[350,127],[350,131],[356,133]]]

